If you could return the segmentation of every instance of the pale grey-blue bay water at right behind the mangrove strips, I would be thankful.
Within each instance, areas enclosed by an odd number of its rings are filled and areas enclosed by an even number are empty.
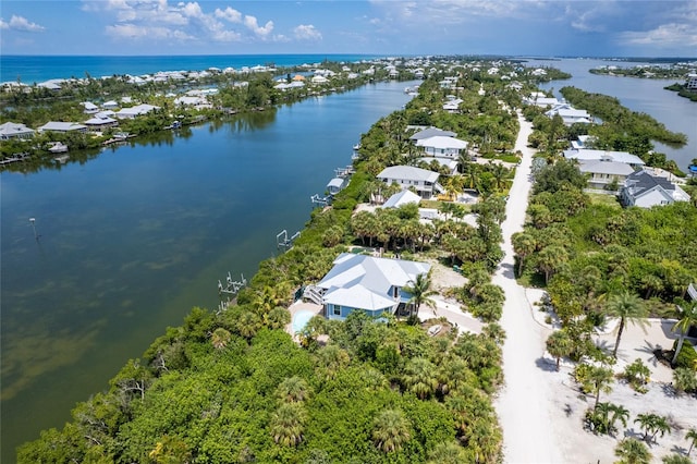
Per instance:
[[[648,80],[632,77],[613,77],[590,74],[588,70],[601,65],[616,65],[631,68],[637,62],[617,62],[607,60],[534,60],[526,65],[547,65],[560,69],[573,75],[566,81],[552,81],[541,85],[543,89],[559,90],[562,87],[574,86],[586,91],[610,95],[616,97],[622,105],[633,111],[650,114],[665,127],[673,132],[682,132],[687,135],[687,145],[682,148],[671,148],[656,144],[656,150],[664,152],[669,159],[674,160],[683,170],[693,158],[697,158],[697,102],[678,97],[677,93],[663,89],[667,85],[674,84],[676,80]],[[559,91],[557,97],[561,98]]]

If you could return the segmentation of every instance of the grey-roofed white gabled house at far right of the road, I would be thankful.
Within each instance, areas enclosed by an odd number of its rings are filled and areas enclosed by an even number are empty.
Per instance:
[[[620,199],[627,207],[651,208],[675,202],[689,202],[689,195],[667,178],[641,170],[627,176],[620,191]]]

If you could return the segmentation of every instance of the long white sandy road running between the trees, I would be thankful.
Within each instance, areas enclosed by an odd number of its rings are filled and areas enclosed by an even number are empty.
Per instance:
[[[523,229],[530,192],[530,166],[533,149],[527,138],[531,124],[518,114],[521,131],[515,149],[523,152],[510,199],[506,220],[502,224],[503,261],[493,276],[493,283],[505,293],[501,326],[506,331],[503,345],[503,373],[505,384],[496,401],[503,429],[504,460],[506,463],[563,463],[563,454],[552,423],[550,386],[539,363],[549,333],[533,318],[525,289],[513,274],[514,253],[511,235]],[[580,430],[579,430],[580,432]]]

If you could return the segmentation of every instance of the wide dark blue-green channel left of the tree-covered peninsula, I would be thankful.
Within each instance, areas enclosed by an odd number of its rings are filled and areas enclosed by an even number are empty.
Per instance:
[[[84,164],[0,173],[2,462],[130,357],[252,277],[276,234],[413,83],[381,83],[108,150]],[[38,242],[29,218],[35,218]]]

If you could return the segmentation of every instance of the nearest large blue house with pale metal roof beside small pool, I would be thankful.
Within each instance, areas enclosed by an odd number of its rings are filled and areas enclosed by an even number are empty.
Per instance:
[[[323,306],[328,319],[345,319],[359,310],[371,317],[403,313],[412,295],[404,291],[431,266],[403,259],[342,253],[305,296]]]

